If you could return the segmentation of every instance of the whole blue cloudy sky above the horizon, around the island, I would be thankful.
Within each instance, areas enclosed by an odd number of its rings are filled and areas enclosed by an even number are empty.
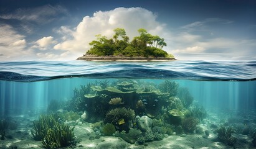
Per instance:
[[[75,60],[118,27],[159,35],[178,60],[256,60],[254,0],[0,0],[0,61]]]

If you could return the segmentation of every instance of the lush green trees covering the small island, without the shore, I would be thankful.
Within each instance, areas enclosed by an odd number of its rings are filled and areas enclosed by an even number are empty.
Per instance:
[[[151,35],[145,29],[138,29],[139,35],[131,42],[126,36],[125,29],[116,28],[113,30],[113,38],[103,35],[96,35],[97,40],[89,43],[92,47],[87,55],[96,56],[142,56],[142,57],[168,57],[168,53],[162,50],[166,46],[164,38],[158,35]]]

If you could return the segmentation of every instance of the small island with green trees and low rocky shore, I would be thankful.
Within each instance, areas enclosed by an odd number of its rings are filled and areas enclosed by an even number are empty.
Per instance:
[[[176,60],[162,48],[166,46],[164,38],[151,35],[145,29],[138,29],[140,36],[131,42],[125,29],[113,30],[113,38],[96,35],[97,40],[89,43],[92,47],[77,60],[88,61],[166,61]]]

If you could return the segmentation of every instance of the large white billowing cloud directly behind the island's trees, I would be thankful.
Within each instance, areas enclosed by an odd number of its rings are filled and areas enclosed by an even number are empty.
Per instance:
[[[63,38],[64,41],[55,45],[54,49],[67,50],[81,56],[90,48],[88,43],[95,40],[95,35],[112,37],[113,29],[117,27],[124,28],[130,38],[137,36],[137,30],[140,28],[148,30],[151,34],[164,35],[164,24],[159,23],[156,17],[153,12],[141,7],[118,7],[111,11],[98,11],[92,17],[83,17],[75,29],[60,27],[58,32],[71,38]]]

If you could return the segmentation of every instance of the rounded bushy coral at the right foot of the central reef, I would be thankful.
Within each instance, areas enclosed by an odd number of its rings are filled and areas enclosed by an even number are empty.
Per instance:
[[[199,124],[199,119],[196,117],[187,117],[183,119],[182,127],[184,132],[193,133],[196,130],[197,124]]]

